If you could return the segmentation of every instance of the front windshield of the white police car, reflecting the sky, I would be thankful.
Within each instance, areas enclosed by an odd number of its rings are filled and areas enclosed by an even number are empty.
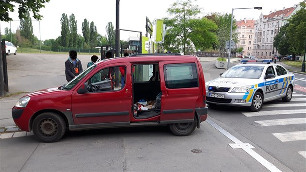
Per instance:
[[[263,69],[263,66],[234,66],[224,72],[221,77],[258,79],[260,78]]]

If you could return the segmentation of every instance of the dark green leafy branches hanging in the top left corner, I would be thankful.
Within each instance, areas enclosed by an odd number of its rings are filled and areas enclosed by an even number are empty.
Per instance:
[[[33,17],[40,20],[43,16],[39,15],[39,10],[45,7],[44,3],[50,0],[0,0],[0,21],[10,21],[9,12],[14,12],[15,5],[19,4],[18,17],[26,18],[27,12],[30,10],[33,12]]]

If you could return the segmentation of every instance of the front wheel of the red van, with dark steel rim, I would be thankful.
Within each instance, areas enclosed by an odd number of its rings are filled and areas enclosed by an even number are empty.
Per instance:
[[[56,113],[44,112],[32,124],[34,136],[42,142],[56,142],[66,132],[64,119]]]

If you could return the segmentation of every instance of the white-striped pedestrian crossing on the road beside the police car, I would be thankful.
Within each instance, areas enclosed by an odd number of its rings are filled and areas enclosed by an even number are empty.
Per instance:
[[[275,110],[275,108],[278,109],[280,107],[285,107],[285,109]],[[260,127],[306,124],[306,95],[297,94],[296,92],[293,92],[292,99],[288,103],[268,103],[264,104],[263,108],[259,112],[242,112],[242,114],[250,118],[260,118],[264,116],[271,116],[272,118],[277,118],[277,116],[279,115],[282,115],[282,117],[286,115],[289,116],[289,118],[278,118],[274,120],[255,120],[254,122],[257,123]],[[294,118],[294,115],[298,115],[299,118]],[[282,142],[306,140],[305,127],[302,130],[300,127],[294,128],[297,131],[286,131],[282,133],[271,134]],[[301,131],[299,131],[299,129]],[[300,150],[297,153],[306,158],[306,150]]]

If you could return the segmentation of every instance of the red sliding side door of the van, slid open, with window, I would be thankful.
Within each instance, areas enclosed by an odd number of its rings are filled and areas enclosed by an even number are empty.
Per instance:
[[[192,122],[201,96],[197,64],[190,60],[159,62],[161,123]]]

